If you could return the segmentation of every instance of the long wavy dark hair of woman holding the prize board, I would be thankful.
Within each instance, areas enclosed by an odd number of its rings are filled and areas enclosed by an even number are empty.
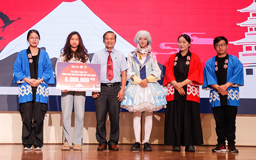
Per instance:
[[[72,35],[77,35],[79,38],[79,45],[77,46],[77,50],[75,52],[71,49],[71,46],[70,46],[70,40],[71,40]],[[76,31],[71,32],[68,35],[67,42],[66,42],[64,48],[61,49],[61,52],[63,52],[62,55],[65,56],[64,62],[69,62],[73,56],[77,60],[80,60],[83,63],[85,63],[89,58],[89,55],[87,53],[88,51],[84,47],[82,37]]]

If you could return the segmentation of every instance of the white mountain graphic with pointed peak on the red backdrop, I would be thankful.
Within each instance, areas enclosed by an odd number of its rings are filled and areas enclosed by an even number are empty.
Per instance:
[[[45,47],[50,58],[59,57],[67,36],[72,31],[79,32],[88,52],[94,53],[105,48],[102,36],[105,32],[112,30],[81,0],[62,2],[29,30],[31,29],[38,30],[41,37],[38,47]],[[29,30],[11,41],[0,52],[0,60],[28,48],[26,37]],[[115,49],[120,50],[127,57],[135,47],[120,37],[118,33],[116,35]]]

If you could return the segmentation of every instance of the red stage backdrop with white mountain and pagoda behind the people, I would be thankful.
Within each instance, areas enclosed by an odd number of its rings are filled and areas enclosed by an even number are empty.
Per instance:
[[[2,0],[3,1],[3,0]],[[13,63],[28,47],[28,30],[36,29],[54,68],[67,35],[81,34],[90,53],[105,47],[102,35],[112,30],[117,35],[115,48],[125,57],[133,51],[139,30],[151,33],[152,48],[158,52],[162,84],[168,57],[177,53],[177,38],[184,33],[192,39],[191,52],[200,56],[202,66],[216,55],[213,39],[225,36],[228,54],[236,55],[244,67],[245,86],[240,87],[238,114],[256,114],[256,2],[254,0],[11,0],[0,5],[0,111],[18,110],[18,85],[13,83]],[[49,89],[48,111],[61,111],[60,94]],[[86,111],[95,111],[87,92]],[[209,91],[200,89],[201,113],[211,113]],[[122,109],[125,112],[124,109]],[[164,112],[160,110],[159,112]]]

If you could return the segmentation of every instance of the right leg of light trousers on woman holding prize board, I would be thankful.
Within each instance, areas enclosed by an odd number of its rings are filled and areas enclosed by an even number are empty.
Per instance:
[[[73,143],[83,145],[85,92],[74,93],[75,126]]]

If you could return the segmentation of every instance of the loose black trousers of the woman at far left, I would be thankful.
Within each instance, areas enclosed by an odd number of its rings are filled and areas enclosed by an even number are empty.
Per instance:
[[[44,145],[44,117],[46,103],[20,103],[19,112],[22,120],[22,145]]]

